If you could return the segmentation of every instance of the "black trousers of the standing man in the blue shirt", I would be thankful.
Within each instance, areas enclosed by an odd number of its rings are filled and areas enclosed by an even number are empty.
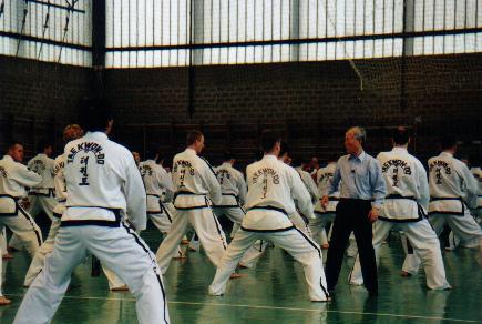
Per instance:
[[[332,290],[338,282],[348,239],[353,232],[365,286],[370,293],[378,293],[377,263],[371,242],[373,234],[368,221],[370,210],[370,201],[343,199],[338,203],[326,265],[329,290]]]

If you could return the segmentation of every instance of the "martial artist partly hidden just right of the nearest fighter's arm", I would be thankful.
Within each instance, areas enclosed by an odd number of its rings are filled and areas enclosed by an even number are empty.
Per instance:
[[[150,156],[152,159],[139,164],[139,170],[147,194],[147,216],[162,233],[163,237],[166,237],[175,216],[175,210],[167,206],[167,204],[172,205],[174,185],[171,175],[157,163],[160,153],[153,154],[155,155]],[[180,247],[177,247],[177,257],[184,257]]]

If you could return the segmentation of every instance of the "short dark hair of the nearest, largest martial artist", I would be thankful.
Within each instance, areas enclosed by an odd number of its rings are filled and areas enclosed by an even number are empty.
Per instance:
[[[104,98],[84,99],[80,109],[80,125],[89,132],[103,132],[112,120],[112,109]]]

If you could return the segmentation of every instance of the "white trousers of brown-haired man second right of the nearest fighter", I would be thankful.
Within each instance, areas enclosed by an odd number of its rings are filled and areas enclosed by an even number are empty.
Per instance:
[[[216,215],[209,206],[177,210],[176,217],[173,220],[171,231],[161,243],[156,259],[161,271],[164,274],[170,266],[171,259],[175,255],[181,240],[186,233],[187,225],[191,224],[199,236],[201,244],[211,262],[217,266],[227,247],[226,237]]]

